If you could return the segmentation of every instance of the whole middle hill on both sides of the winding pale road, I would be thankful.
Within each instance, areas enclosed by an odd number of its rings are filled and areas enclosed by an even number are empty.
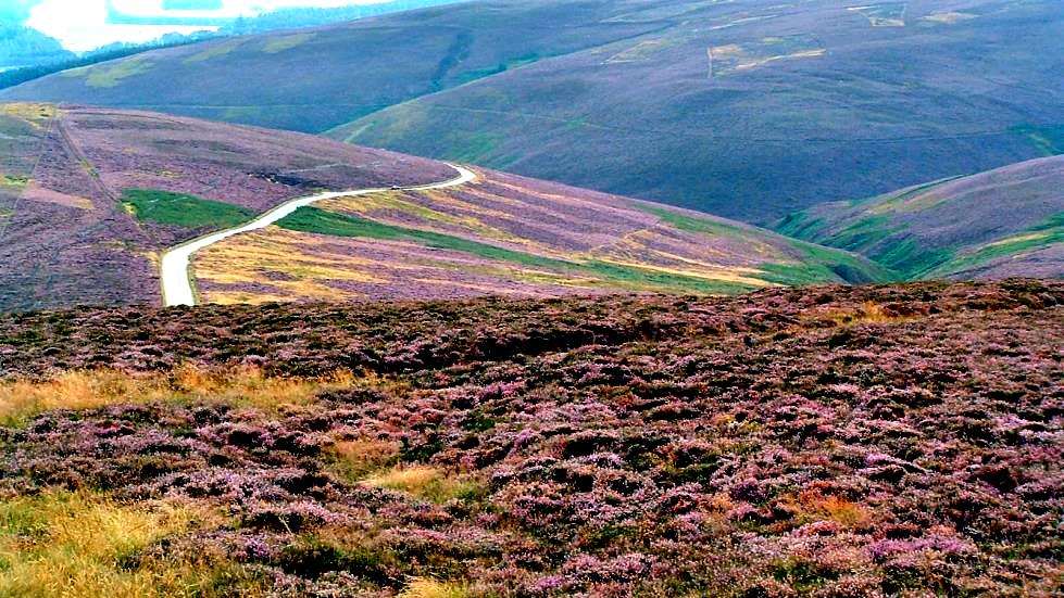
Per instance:
[[[883,280],[848,252],[749,225],[293,132],[47,104],[0,106],[0,309],[157,303],[160,252],[322,190],[198,254],[216,302],[609,291],[734,293]]]

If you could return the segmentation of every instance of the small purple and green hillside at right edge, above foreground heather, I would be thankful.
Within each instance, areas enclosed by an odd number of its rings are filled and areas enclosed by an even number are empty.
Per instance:
[[[1064,278],[1064,156],[821,204],[776,230],[906,278]]]

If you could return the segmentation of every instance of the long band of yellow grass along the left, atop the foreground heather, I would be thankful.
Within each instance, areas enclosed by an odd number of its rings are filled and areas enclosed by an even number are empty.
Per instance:
[[[126,403],[212,400],[275,410],[305,405],[323,390],[351,384],[350,372],[313,379],[268,377],[259,368],[204,370],[183,366],[167,374],[80,370],[43,381],[0,382],[0,423],[18,424],[51,409],[98,409]]]

